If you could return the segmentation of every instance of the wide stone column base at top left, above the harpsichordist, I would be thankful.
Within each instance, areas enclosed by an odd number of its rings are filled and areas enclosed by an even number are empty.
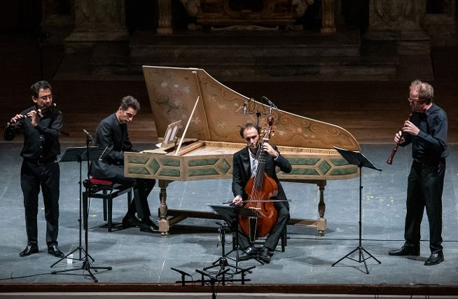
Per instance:
[[[75,0],[75,28],[65,39],[67,53],[128,40],[124,0]]]

